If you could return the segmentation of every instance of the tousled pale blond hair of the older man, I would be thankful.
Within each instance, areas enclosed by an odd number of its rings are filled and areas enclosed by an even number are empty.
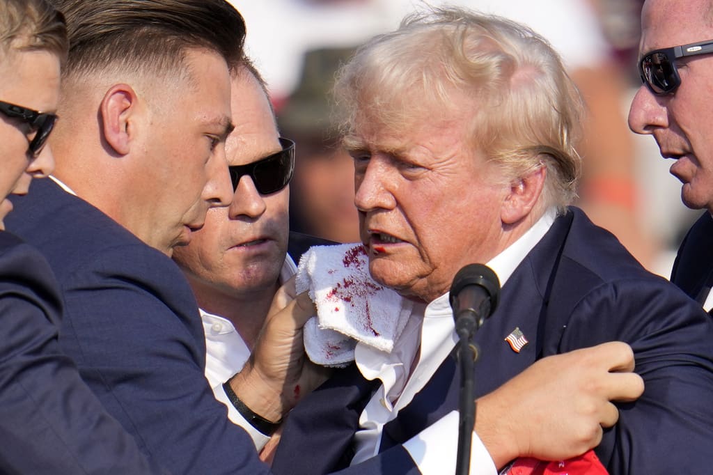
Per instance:
[[[526,26],[455,7],[418,12],[362,46],[335,91],[347,135],[362,114],[398,133],[414,117],[470,107],[471,145],[508,180],[545,165],[543,204],[562,210],[576,196],[583,102],[558,54]]]

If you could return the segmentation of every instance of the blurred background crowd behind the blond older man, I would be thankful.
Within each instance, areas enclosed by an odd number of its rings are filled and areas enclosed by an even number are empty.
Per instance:
[[[297,142],[292,230],[359,240],[353,165],[339,148],[330,100],[334,73],[371,36],[398,26],[421,0],[230,0],[245,17],[247,52],[270,87],[283,136]],[[545,36],[586,101],[577,203],[645,267],[670,275],[682,233],[699,215],[655,142],[627,128],[640,85],[635,66],[642,0],[429,0],[507,16]],[[662,169],[663,168],[663,169]]]

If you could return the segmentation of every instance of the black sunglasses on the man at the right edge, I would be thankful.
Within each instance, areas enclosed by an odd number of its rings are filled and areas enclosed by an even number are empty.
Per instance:
[[[675,61],[684,56],[709,53],[713,53],[713,40],[651,51],[639,61],[641,80],[652,93],[673,93],[681,85]]]

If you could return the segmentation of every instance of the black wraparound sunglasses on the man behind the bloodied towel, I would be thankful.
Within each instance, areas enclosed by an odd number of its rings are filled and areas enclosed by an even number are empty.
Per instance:
[[[294,172],[294,142],[279,138],[282,150],[247,165],[229,166],[233,191],[237,190],[242,175],[250,175],[252,183],[261,195],[270,195],[286,187]]]

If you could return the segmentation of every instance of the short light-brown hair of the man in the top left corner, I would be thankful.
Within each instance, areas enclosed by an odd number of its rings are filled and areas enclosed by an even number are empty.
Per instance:
[[[0,53],[49,51],[64,61],[67,29],[64,16],[45,0],[0,0]]]

